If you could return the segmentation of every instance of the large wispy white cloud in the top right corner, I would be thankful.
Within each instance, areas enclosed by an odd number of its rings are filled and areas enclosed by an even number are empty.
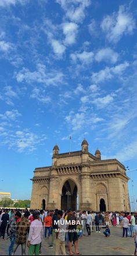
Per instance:
[[[136,26],[132,13],[121,5],[117,13],[104,17],[101,27],[106,33],[107,40],[116,43],[122,35],[132,34]]]

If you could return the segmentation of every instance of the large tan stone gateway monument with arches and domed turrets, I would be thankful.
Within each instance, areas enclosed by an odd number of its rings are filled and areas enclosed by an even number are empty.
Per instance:
[[[31,209],[130,211],[128,180],[117,159],[102,160],[82,141],[81,151],[59,154],[53,148],[52,166],[35,168]]]

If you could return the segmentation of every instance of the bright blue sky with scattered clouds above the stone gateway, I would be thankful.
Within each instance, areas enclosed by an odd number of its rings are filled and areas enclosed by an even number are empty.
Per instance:
[[[0,12],[0,190],[30,198],[34,168],[70,135],[73,151],[85,137],[137,169],[136,1],[0,0]]]

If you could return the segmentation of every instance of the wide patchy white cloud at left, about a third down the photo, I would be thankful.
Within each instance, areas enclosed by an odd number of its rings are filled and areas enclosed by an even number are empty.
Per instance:
[[[20,83],[26,81],[27,83],[37,82],[43,83],[45,86],[57,86],[63,82],[63,73],[58,70],[48,71],[46,66],[42,64],[37,65],[37,70],[30,72],[30,70],[23,68],[19,73],[16,73],[16,79]]]

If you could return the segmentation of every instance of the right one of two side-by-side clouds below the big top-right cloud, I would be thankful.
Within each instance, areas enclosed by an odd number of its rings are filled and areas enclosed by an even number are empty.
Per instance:
[[[98,62],[116,63],[118,61],[118,54],[111,48],[103,48],[96,53],[95,60]]]

